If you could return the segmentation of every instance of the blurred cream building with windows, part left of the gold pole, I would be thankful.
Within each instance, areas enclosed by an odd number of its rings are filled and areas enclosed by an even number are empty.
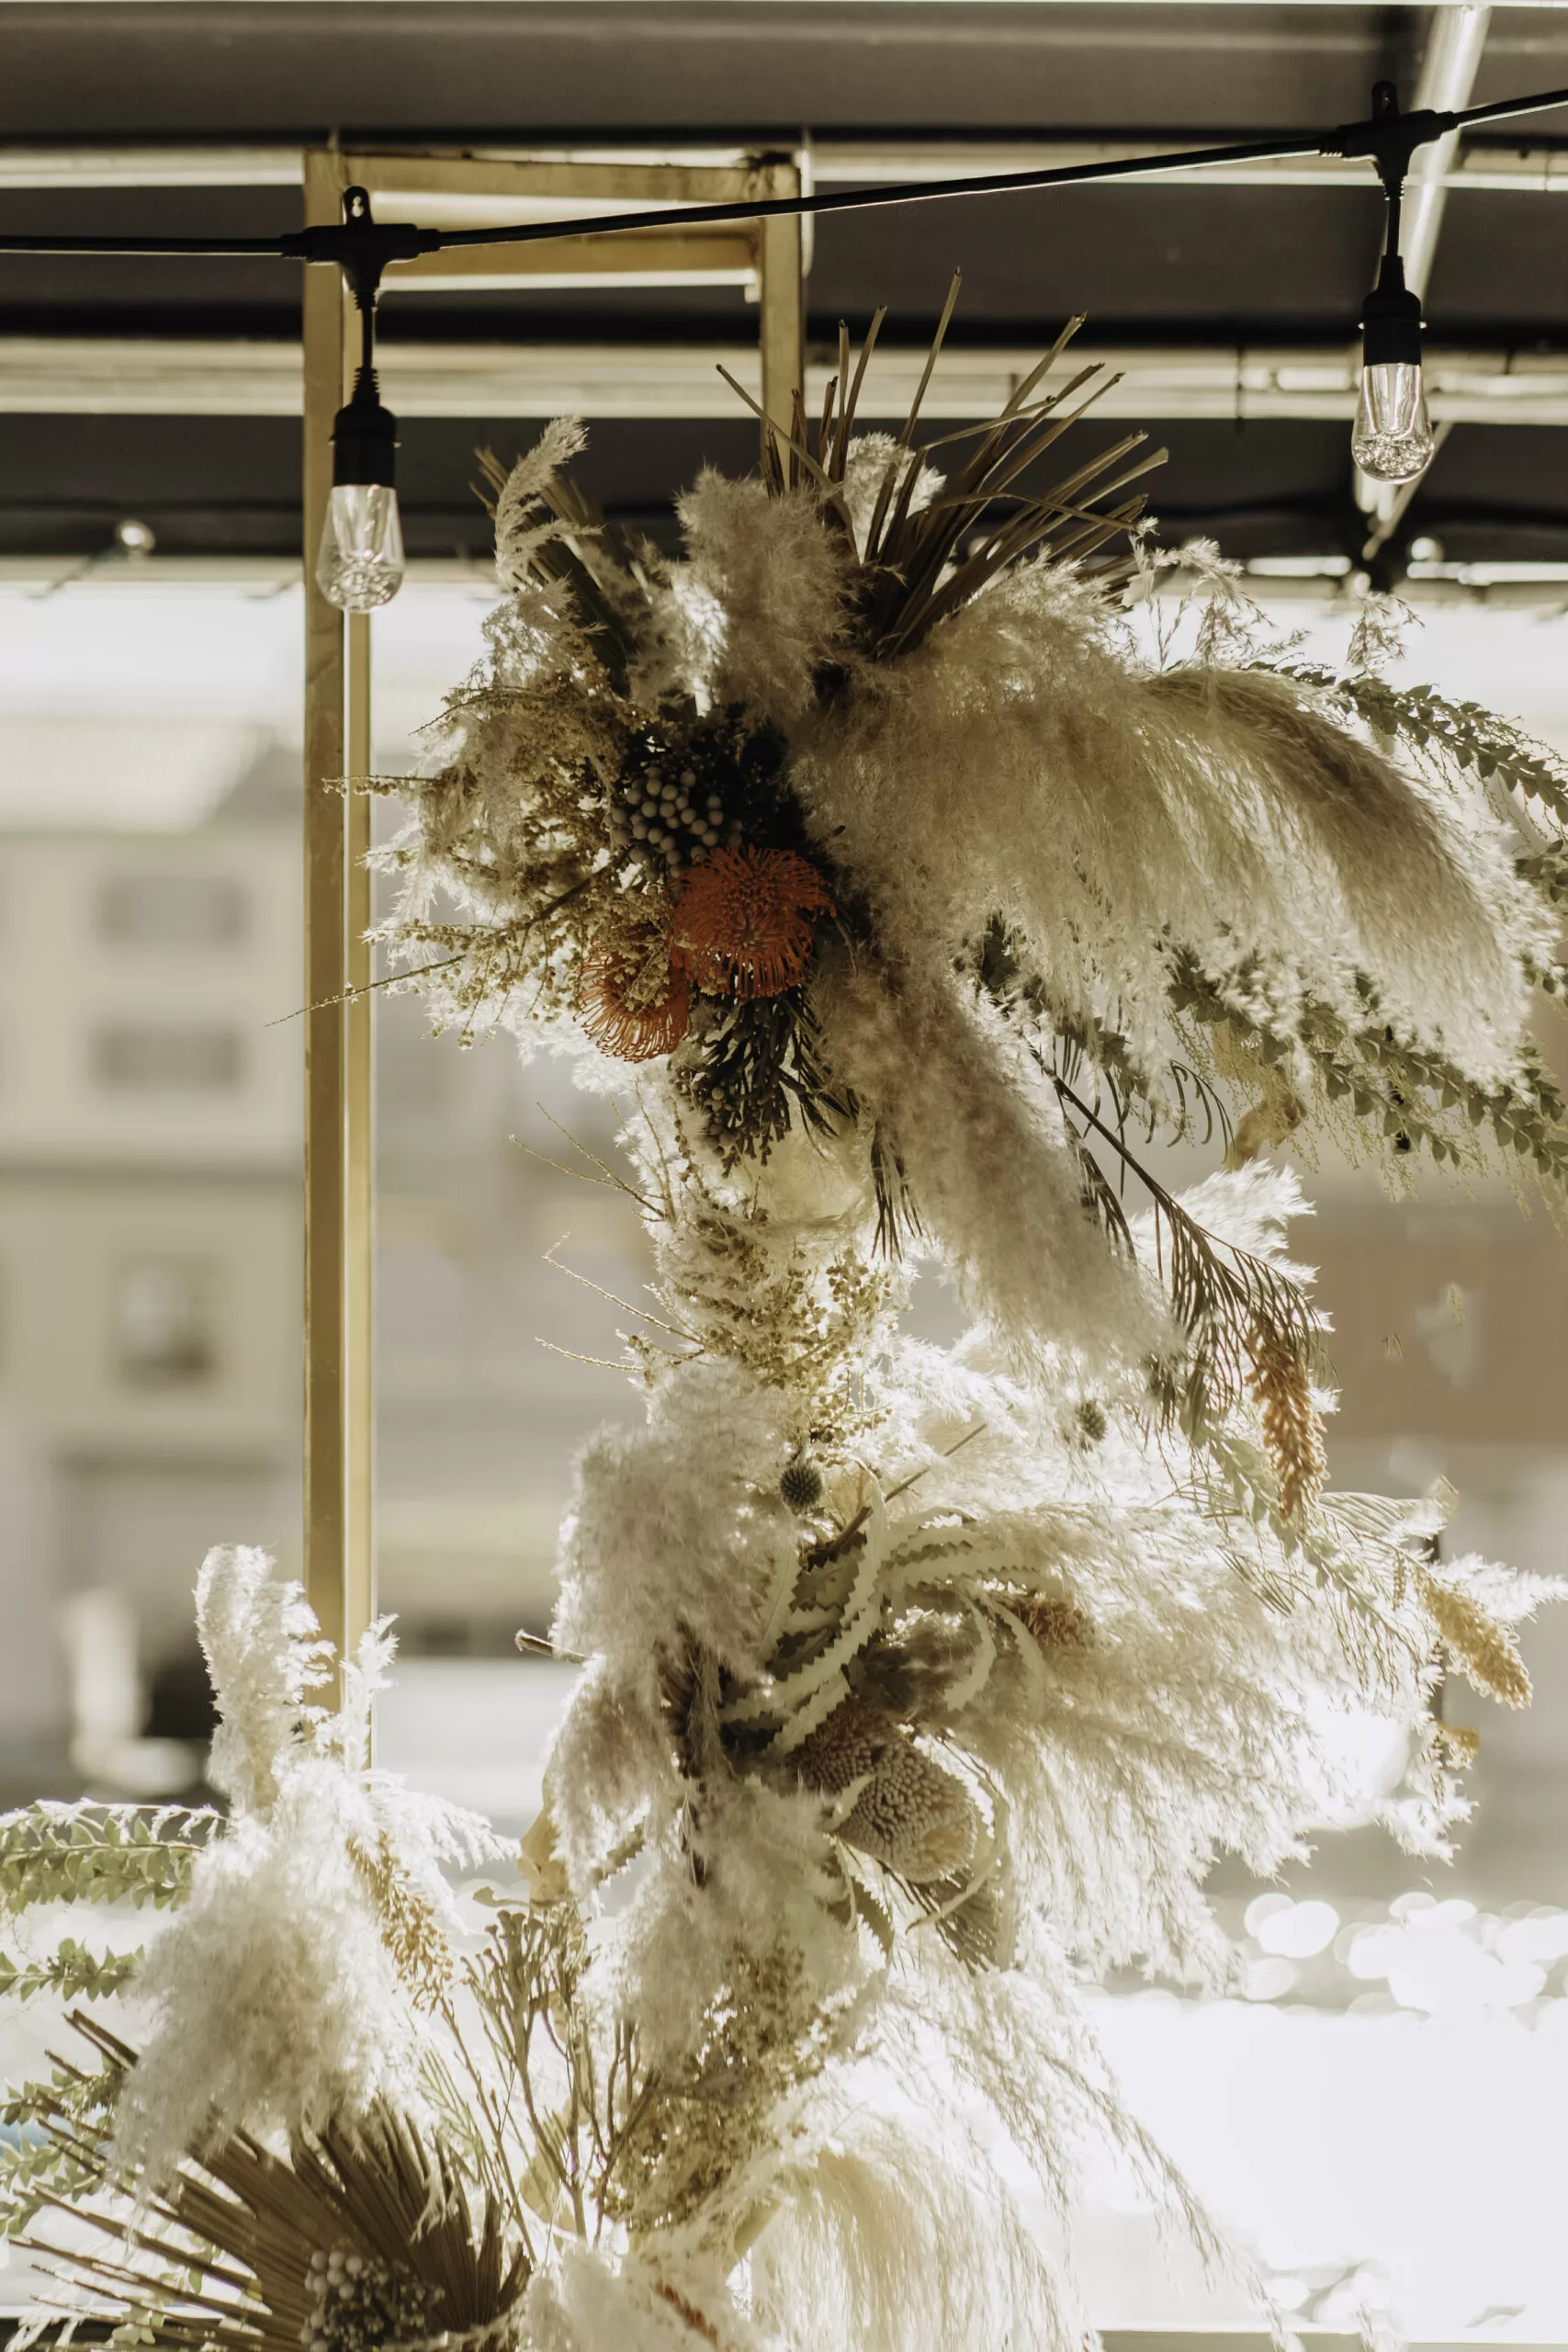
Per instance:
[[[193,1562],[299,1548],[299,769],[176,713],[0,741],[0,1738],[47,1771],[113,1623],[122,1729],[200,1736]]]

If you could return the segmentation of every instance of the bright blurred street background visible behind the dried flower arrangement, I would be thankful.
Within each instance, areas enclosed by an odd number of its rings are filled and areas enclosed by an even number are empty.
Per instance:
[[[378,769],[418,755],[484,609],[473,576],[376,619]],[[1349,602],[1276,619],[1338,647]],[[1410,670],[1568,748],[1566,654],[1561,614],[1476,597],[1427,614]],[[7,1802],[195,1788],[195,1566],[249,1541],[296,1569],[299,656],[296,590],[0,590]],[[574,1446],[637,1409],[614,1357],[639,1235],[576,1174],[578,1143],[614,1150],[609,1105],[503,1040],[430,1040],[409,997],[376,1023],[376,1555],[402,1637],[378,1759],[522,1828],[564,1670],[515,1632],[548,1625]],[[1568,1566],[1568,1244],[1505,1192],[1305,1178],[1338,1482],[1450,1477],[1458,1545]],[[1140,2114],[1307,2324],[1568,2340],[1568,1628],[1528,1656],[1528,1717],[1443,1693],[1483,1743],[1453,1867],[1375,1830],[1279,1889],[1222,1865],[1237,1997],[1095,1999]],[[1081,2244],[1110,2328],[1248,2324],[1110,2169]]]

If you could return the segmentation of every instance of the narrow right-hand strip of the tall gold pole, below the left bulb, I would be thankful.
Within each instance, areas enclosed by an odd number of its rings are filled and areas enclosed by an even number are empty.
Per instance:
[[[371,661],[367,612],[348,616],[348,774],[371,771]],[[371,797],[350,793],[346,807],[346,1087],[343,1087],[343,1418],[346,1418],[346,1541],[343,1541],[343,1642],[360,1639],[376,1613],[376,1000],[371,948],[371,882],[364,868],[371,837]]]

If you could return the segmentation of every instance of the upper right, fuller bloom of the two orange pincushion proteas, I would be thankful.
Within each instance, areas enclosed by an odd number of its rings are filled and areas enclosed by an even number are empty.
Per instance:
[[[696,988],[715,997],[778,997],[806,978],[823,877],[792,849],[715,849],[675,901],[670,936]]]

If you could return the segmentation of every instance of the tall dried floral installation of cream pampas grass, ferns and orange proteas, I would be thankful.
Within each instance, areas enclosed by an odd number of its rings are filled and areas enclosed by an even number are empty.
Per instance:
[[[141,2002],[139,2053],[80,2011],[7,2110],[12,2234],[132,2331],[1077,2352],[1086,2133],[1232,2260],[1079,1985],[1225,1985],[1220,1851],[1375,1813],[1443,1853],[1443,1661],[1528,1698],[1547,1588],[1439,1557],[1441,1494],[1326,1484],[1267,1152],[1563,1195],[1526,1023],[1568,771],[1387,684],[1378,604],[1309,668],[1213,550],[1157,555],[1138,435],[1048,456],[1103,388],[1070,332],[983,428],[856,433],[877,327],[759,477],[698,480],[677,562],[574,487],[576,423],[489,468],[505,597],[428,771],[376,781],[383,936],[437,1025],[630,1105],[646,1423],[578,1463],[581,1677],[482,1940],[487,1828],[364,1769],[386,1635],[313,1708],[252,1552],[197,1595],[226,1818],[7,1823],[2,1907],[167,1912],[146,1959],[9,1964]],[[1154,1138],[1225,1164],[1173,1190]],[[919,1256],[957,1348],[907,1329]],[[1392,1795],[1352,1712],[1406,1736]]]

